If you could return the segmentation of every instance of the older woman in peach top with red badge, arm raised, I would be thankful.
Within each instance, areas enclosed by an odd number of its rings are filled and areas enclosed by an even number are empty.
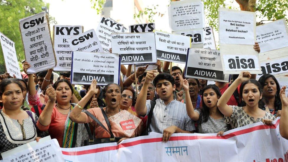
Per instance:
[[[94,95],[97,94],[98,89],[96,89],[97,82],[95,80],[92,81],[90,86],[90,91],[86,94],[89,96],[86,99],[81,99],[78,102],[78,105],[75,106],[76,108],[72,110],[70,113],[70,119],[77,123],[90,123],[92,127],[95,128],[95,136],[96,138],[109,138],[110,134],[104,128],[99,126],[94,120],[92,120],[88,115],[82,112],[82,107],[85,106],[86,102]],[[135,137],[135,132],[138,131],[138,126],[140,125],[141,119],[136,117],[135,115],[127,112],[126,110],[121,110],[119,107],[122,94],[121,88],[118,84],[110,83],[103,89],[103,97],[106,100],[107,106],[103,108],[105,111],[105,115],[107,115],[108,120],[111,124],[111,131],[115,137],[124,137],[131,138]],[[95,116],[105,127],[109,130],[107,123],[105,122],[104,116],[102,114],[102,109],[99,107],[90,108],[89,111],[93,116]],[[125,129],[120,126],[119,123],[126,122],[127,120],[133,120],[135,127],[132,129]],[[133,125],[134,126],[134,125]],[[140,126],[139,126],[140,127]]]

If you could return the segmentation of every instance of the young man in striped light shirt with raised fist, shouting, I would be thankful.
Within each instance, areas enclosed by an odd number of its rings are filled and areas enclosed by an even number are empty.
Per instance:
[[[194,122],[187,115],[186,104],[176,101],[173,97],[173,91],[176,89],[174,78],[169,73],[161,73],[156,76],[156,72],[156,70],[147,72],[145,82],[136,100],[136,112],[142,116],[149,114],[151,104],[150,100],[146,101],[146,96],[148,85],[153,81],[160,99],[156,100],[153,109],[150,130],[163,133],[163,142],[168,141],[175,132],[193,133],[196,128]]]

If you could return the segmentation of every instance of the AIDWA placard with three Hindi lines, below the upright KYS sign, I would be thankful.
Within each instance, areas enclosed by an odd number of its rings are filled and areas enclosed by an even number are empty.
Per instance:
[[[112,33],[112,49],[121,64],[156,63],[155,36],[147,33]]]

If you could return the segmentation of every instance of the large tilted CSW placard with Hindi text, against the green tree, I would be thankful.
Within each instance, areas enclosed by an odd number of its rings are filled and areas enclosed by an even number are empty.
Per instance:
[[[53,68],[57,65],[54,47],[50,37],[50,26],[47,14],[39,14],[19,20],[24,46],[25,59],[31,67],[27,73]]]

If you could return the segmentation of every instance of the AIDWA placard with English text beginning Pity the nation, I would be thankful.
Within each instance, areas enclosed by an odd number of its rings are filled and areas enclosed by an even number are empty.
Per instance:
[[[97,85],[120,84],[120,55],[75,51],[72,60],[72,84],[90,85],[93,79]]]

